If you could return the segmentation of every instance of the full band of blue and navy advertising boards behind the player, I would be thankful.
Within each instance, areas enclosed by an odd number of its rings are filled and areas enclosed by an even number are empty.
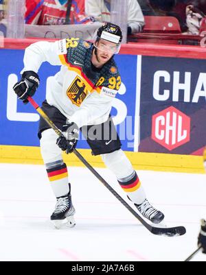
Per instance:
[[[0,50],[1,145],[38,146],[39,115],[17,100],[12,86],[23,68],[23,50]],[[206,141],[205,60],[118,55],[122,88],[111,115],[122,149],[129,152],[199,155]],[[41,105],[60,67],[45,62],[34,99]],[[89,148],[80,136],[79,148]]]

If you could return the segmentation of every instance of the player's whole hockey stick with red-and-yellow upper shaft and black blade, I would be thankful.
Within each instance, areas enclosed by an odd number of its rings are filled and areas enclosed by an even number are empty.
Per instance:
[[[49,117],[38,106],[38,104],[36,104],[34,99],[32,99],[32,97],[28,97],[27,99],[30,101],[30,104],[32,104],[32,106],[34,106],[34,108],[39,113],[39,115],[41,115],[41,117],[43,117],[43,119],[45,119],[45,121],[48,123],[48,125],[56,132],[56,134],[58,134],[58,136],[62,136],[62,132],[49,119]],[[168,237],[181,236],[181,235],[185,234],[186,229],[183,226],[177,226],[177,227],[172,227],[172,228],[159,228],[159,227],[151,226],[150,224],[148,224],[142,217],[140,217],[137,214],[136,211],[134,211],[134,209],[132,207],[130,207],[125,202],[125,200],[122,199],[122,197],[120,197],[120,195],[104,180],[104,178],[102,178],[102,176],[100,176],[100,174],[98,174],[98,172],[95,171],[95,169],[93,169],[93,167],[91,167],[91,165],[89,163],[87,163],[87,160],[85,160],[83,158],[83,156],[76,149],[73,150],[73,153],[82,161],[82,163],[84,163],[84,165],[91,171],[91,173],[95,177],[97,177],[98,180],[100,180],[100,182],[102,182],[104,184],[104,186],[109,191],[111,191],[111,193],[117,198],[117,200],[119,200],[119,202],[121,202],[128,209],[128,211],[130,211],[130,213],[132,213],[139,220],[139,222],[141,222],[141,224],[143,224],[152,234],[165,235]]]

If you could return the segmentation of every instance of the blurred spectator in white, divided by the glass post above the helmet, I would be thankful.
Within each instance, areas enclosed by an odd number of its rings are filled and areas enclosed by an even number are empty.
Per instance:
[[[85,12],[95,21],[111,21],[111,0],[85,0]],[[144,15],[137,0],[128,0],[128,34],[141,32],[144,27]]]

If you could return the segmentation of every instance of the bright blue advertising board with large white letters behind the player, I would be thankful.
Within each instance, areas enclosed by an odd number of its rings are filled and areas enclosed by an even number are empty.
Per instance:
[[[23,69],[24,51],[19,49],[0,49],[0,144],[1,145],[21,145],[38,146],[37,137],[39,115],[30,104],[23,105],[17,100],[12,86],[20,78]],[[123,150],[133,151],[134,135],[125,128],[126,117],[130,117],[129,122],[134,125],[135,117],[135,97],[136,97],[136,74],[137,56],[119,55],[115,57],[119,72],[122,76],[124,88],[114,99],[114,107],[111,115],[117,124],[117,131],[122,139]],[[128,65],[129,64],[129,65]],[[45,99],[47,80],[55,75],[60,67],[52,66],[45,62],[42,64],[38,74],[41,85],[34,95],[36,102],[41,105]],[[89,148],[87,142],[80,140],[80,148]]]

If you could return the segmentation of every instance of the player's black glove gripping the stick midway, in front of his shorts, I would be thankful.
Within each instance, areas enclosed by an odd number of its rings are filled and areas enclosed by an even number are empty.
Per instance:
[[[63,125],[62,133],[64,136],[60,136],[57,139],[56,144],[62,151],[66,151],[66,154],[73,152],[73,149],[76,148],[78,142],[79,132],[78,125],[74,122]]]

